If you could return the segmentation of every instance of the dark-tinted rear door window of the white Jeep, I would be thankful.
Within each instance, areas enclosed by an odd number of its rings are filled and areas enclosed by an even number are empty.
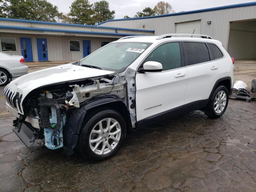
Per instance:
[[[186,65],[210,61],[210,54],[205,43],[183,42],[186,53]]]

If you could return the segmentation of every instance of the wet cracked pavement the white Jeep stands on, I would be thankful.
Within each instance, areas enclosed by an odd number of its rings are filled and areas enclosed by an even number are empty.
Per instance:
[[[230,99],[219,119],[194,111],[128,133],[103,162],[40,142],[28,149],[12,132],[4,98],[0,111],[1,192],[256,191],[256,102]]]

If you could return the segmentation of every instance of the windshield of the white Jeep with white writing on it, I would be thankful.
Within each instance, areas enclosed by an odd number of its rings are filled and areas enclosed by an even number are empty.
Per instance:
[[[150,45],[143,42],[113,42],[80,60],[79,65],[121,72]]]

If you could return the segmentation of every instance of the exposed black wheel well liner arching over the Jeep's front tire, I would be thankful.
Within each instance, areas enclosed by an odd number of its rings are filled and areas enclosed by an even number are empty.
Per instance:
[[[126,105],[113,96],[97,97],[84,106],[75,109],[67,120],[63,130],[64,153],[71,155],[78,142],[78,137],[86,119],[90,118],[100,110],[113,109],[122,113],[127,127],[131,127],[130,114]]]

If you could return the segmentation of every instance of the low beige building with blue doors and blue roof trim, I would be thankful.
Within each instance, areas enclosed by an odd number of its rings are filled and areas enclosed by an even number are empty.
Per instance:
[[[26,62],[76,61],[123,36],[154,30],[0,18],[0,51]]]

